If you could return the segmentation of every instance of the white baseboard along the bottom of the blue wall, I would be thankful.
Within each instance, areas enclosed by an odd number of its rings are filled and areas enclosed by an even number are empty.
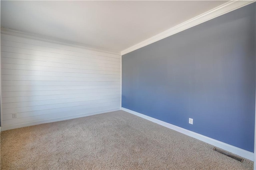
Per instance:
[[[230,144],[226,144],[224,142],[220,142],[218,140],[209,138],[207,136],[198,134],[196,132],[192,132],[190,130],[186,130],[184,128],[180,128],[180,127],[175,126],[173,124],[169,124],[169,123],[163,122],[161,120],[152,118],[150,116],[146,116],[146,115],[138,113],[138,112],[134,112],[134,111],[126,109],[126,108],[122,108],[122,110],[124,110],[124,111],[126,111],[128,113],[134,114],[136,116],[139,116],[141,118],[144,118],[146,120],[149,120],[151,122],[154,122],[154,123],[160,124],[162,126],[165,126],[166,128],[170,128],[170,129],[176,130],[177,132],[180,132],[182,134],[186,134],[186,135],[191,136],[193,138],[196,138],[198,140],[202,140],[203,142],[206,142],[206,143],[211,144],[213,146],[216,146],[218,148],[224,149],[224,150],[226,150],[228,152],[231,152],[231,153],[236,154],[238,156],[241,156],[243,158],[246,158],[246,159],[254,161],[254,153],[253,152],[249,152],[247,150],[243,150],[243,149],[238,148],[236,146],[232,146]]]

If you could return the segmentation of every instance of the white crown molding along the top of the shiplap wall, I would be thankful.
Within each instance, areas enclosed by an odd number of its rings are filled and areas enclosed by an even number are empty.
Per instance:
[[[30,39],[34,39],[34,40],[41,40],[41,41],[45,41],[45,42],[51,42],[51,43],[56,43],[56,44],[61,44],[61,45],[66,45],[66,46],[72,46],[72,47],[76,47],[76,48],[82,48],[85,50],[92,50],[92,51],[97,51],[97,52],[104,52],[104,53],[109,53],[109,54],[120,55],[120,52],[111,52],[108,50],[91,48],[86,44],[81,44],[81,43],[68,41],[68,40],[64,40],[64,39],[60,39],[60,38],[50,37],[50,36],[44,36],[44,35],[40,35],[40,34],[34,34],[34,33],[30,33],[30,32],[23,32],[20,30],[14,30],[14,29],[10,29],[10,28],[1,27],[1,34],[19,36],[19,37],[23,37],[23,38],[30,38]]]

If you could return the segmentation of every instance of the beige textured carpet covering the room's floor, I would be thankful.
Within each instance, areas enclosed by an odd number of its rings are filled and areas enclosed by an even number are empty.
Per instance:
[[[124,111],[1,132],[1,170],[252,170]]]

